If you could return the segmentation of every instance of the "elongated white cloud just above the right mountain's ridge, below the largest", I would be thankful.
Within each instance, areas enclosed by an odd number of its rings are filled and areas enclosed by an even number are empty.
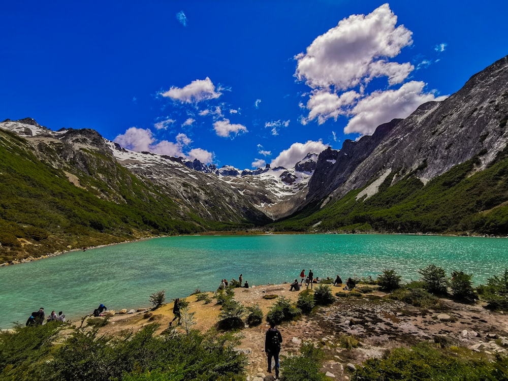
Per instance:
[[[405,118],[422,103],[446,98],[435,98],[433,93],[424,93],[424,86],[424,82],[411,81],[397,90],[371,93],[353,108],[354,116],[345,126],[344,133],[371,135],[379,124],[393,118]]]

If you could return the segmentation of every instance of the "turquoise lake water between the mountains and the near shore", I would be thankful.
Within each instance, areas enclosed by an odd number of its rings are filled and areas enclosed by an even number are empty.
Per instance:
[[[314,276],[376,277],[395,268],[404,280],[434,263],[448,274],[473,274],[485,283],[508,267],[508,239],[413,235],[180,236],[75,251],[0,268],[0,328],[24,324],[32,311],[63,310],[78,320],[100,303],[108,309],[149,307],[150,294],[166,300],[199,288],[216,290],[221,278],[252,284]]]

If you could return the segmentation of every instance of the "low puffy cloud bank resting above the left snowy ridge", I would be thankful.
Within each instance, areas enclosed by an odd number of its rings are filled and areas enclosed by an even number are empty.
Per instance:
[[[115,140],[122,147],[133,151],[148,151],[160,155],[169,155],[174,157],[186,157],[190,160],[198,158],[202,163],[209,164],[212,162],[213,154],[201,148],[191,149],[187,154],[183,148],[192,143],[192,140],[185,134],[178,134],[175,142],[168,140],[157,141],[150,130],[131,127],[125,131],[125,134],[118,135]]]

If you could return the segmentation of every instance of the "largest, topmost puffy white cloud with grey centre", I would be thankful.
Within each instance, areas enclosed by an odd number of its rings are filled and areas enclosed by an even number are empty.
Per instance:
[[[412,32],[395,27],[397,16],[384,4],[368,15],[352,15],[317,37],[306,53],[295,56],[295,76],[312,88],[352,88],[380,76],[390,83],[407,77],[410,65],[387,62],[412,44]]]

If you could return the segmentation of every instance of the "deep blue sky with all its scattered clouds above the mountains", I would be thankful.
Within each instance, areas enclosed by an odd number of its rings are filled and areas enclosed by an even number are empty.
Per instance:
[[[4,2],[0,118],[253,168],[339,149],[508,54],[508,2]]]

